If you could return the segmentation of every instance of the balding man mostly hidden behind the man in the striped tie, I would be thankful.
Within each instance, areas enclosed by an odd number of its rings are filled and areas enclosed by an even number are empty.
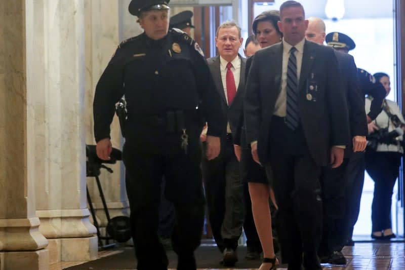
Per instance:
[[[325,23],[316,17],[308,18],[306,39],[323,45],[326,37]],[[347,178],[345,172],[349,158],[353,152],[366,149],[367,119],[364,108],[364,94],[362,94],[357,78],[357,67],[351,55],[335,51],[341,74],[341,89],[345,94],[349,109],[350,133],[352,142],[345,149],[341,166],[332,169],[330,166],[322,168],[322,200],[323,200],[323,235],[318,255],[321,262],[331,264],[346,264],[347,260],[341,252],[346,241],[346,224],[344,224],[345,186]]]

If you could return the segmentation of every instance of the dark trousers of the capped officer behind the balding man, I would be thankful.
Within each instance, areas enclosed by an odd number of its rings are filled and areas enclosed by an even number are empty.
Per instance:
[[[349,163],[345,171],[345,217],[346,240],[353,236],[354,224],[357,222],[360,212],[361,193],[364,185],[365,153],[354,152],[349,158]]]

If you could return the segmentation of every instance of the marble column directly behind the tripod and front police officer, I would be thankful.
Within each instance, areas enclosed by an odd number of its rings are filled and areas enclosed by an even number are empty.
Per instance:
[[[95,144],[93,132],[93,99],[98,80],[111,56],[120,43],[120,5],[118,0],[86,0],[86,93],[85,93],[85,133],[86,143]],[[112,146],[122,149],[119,122],[114,117],[111,125]],[[110,217],[129,215],[129,204],[125,189],[125,168],[121,162],[106,165],[113,173],[101,169],[99,176]],[[107,218],[103,209],[100,193],[94,177],[87,178],[93,207],[98,223],[104,234]]]

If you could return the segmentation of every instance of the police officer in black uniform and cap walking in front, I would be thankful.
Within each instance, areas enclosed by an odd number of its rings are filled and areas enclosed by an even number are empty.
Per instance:
[[[179,270],[196,269],[194,250],[204,225],[199,135],[208,122],[208,159],[226,132],[219,94],[204,54],[182,31],[169,28],[169,0],[132,0],[129,12],[144,32],[121,43],[96,87],[97,155],[108,160],[115,103],[125,95],[128,118],[123,160],[138,270],[167,269],[157,236],[160,182],[176,208],[173,249]]]

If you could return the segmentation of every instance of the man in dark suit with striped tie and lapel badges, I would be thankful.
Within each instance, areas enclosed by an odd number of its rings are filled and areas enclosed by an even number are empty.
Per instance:
[[[302,263],[321,269],[320,168],[339,167],[350,140],[335,53],[305,41],[307,26],[300,3],[280,6],[283,41],[254,55],[244,103],[252,155],[272,179],[289,270],[301,269]]]

